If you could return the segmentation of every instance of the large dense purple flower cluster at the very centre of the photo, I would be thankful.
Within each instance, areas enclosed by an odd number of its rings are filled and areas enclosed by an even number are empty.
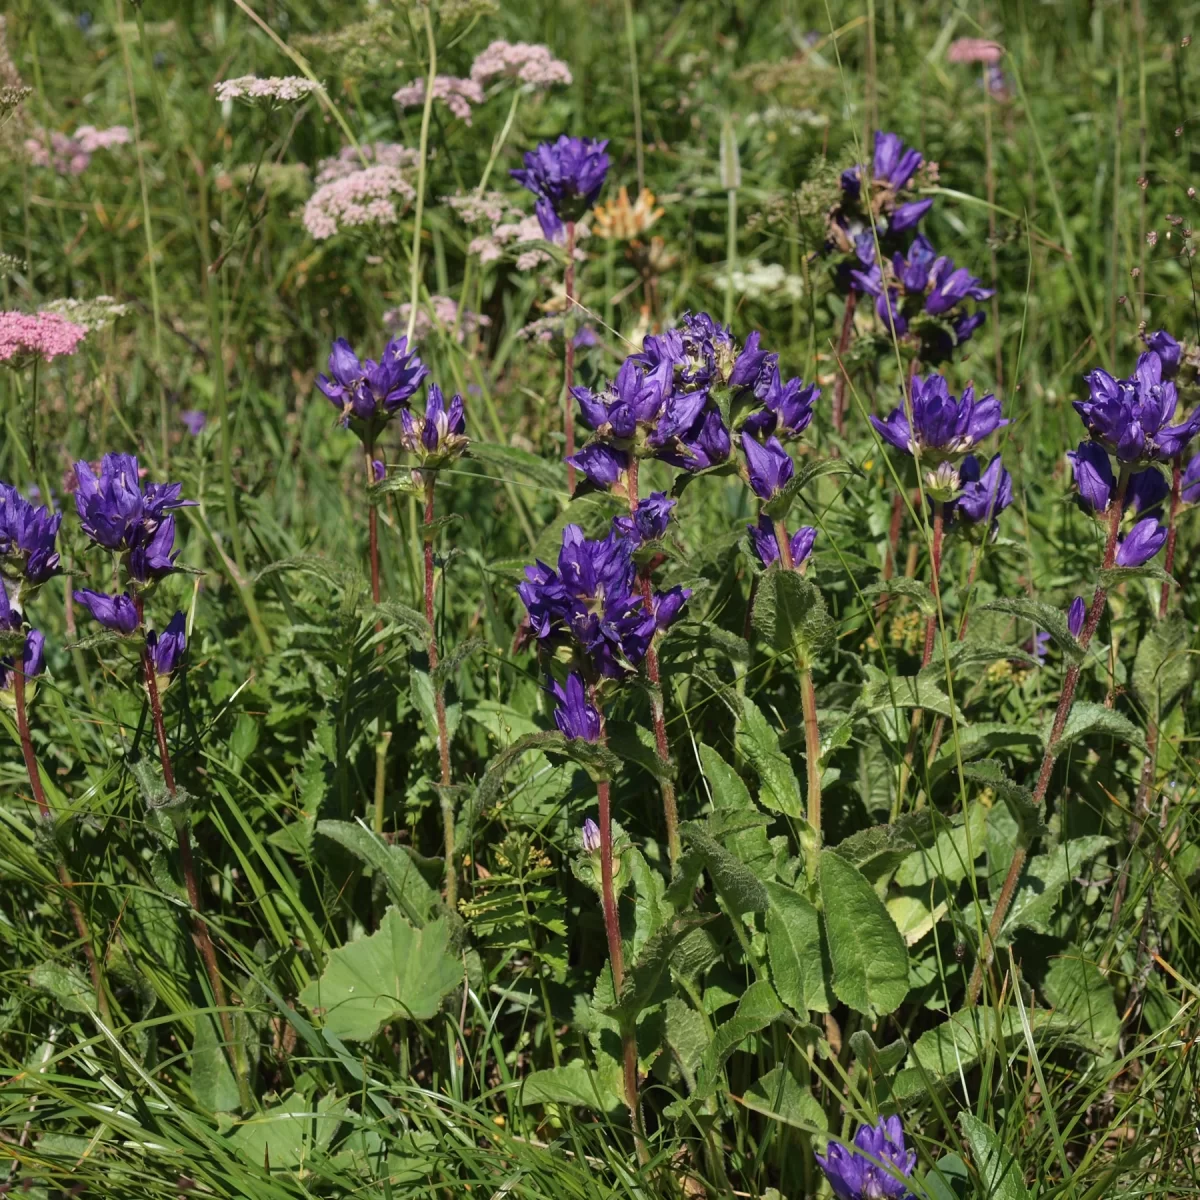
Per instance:
[[[574,642],[593,677],[619,679],[636,667],[655,632],[674,620],[691,595],[671,588],[655,593],[647,606],[637,588],[636,547],[619,528],[590,541],[569,524],[558,570],[538,562],[526,568],[526,582],[517,588],[538,641]]]

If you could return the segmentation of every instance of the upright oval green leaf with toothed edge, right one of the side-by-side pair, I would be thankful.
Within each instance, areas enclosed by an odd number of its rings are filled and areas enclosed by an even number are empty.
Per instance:
[[[821,852],[833,991],[868,1016],[895,1012],[908,995],[908,952],[865,876],[832,850]]]

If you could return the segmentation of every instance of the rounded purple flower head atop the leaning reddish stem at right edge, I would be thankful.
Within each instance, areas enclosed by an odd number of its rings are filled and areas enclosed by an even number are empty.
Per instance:
[[[1178,392],[1153,350],[1139,356],[1128,379],[1115,379],[1099,368],[1085,378],[1090,395],[1074,402],[1075,412],[1092,440],[1121,462],[1166,462],[1200,433],[1200,407],[1186,421],[1166,424],[1175,415]]]

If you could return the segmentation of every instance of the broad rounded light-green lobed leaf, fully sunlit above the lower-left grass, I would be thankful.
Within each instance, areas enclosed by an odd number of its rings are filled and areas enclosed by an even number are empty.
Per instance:
[[[462,978],[445,919],[418,930],[389,908],[376,932],[330,952],[300,1002],[322,1009],[325,1027],[342,1040],[364,1042],[398,1018],[430,1020]]]

